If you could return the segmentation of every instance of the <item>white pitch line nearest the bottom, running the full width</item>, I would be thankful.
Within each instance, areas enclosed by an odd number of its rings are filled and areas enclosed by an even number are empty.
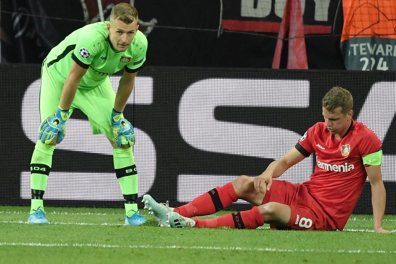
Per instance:
[[[385,250],[322,250],[322,249],[278,249],[278,248],[258,248],[258,247],[204,247],[204,246],[153,246],[153,245],[107,245],[101,243],[25,243],[25,242],[0,242],[0,246],[27,246],[27,247],[98,247],[98,248],[130,248],[130,249],[203,249],[203,250],[225,250],[225,251],[268,251],[268,252],[312,252],[312,253],[381,253],[396,254],[396,251]]]

